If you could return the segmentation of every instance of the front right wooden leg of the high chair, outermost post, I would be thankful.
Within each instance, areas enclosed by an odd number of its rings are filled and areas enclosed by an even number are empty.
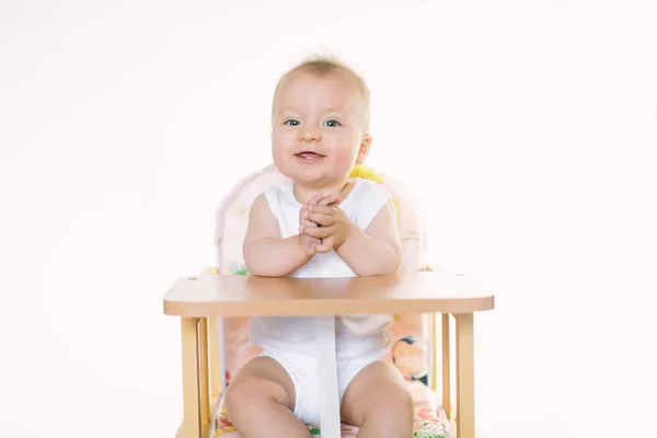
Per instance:
[[[474,438],[473,315],[457,314],[457,438]]]

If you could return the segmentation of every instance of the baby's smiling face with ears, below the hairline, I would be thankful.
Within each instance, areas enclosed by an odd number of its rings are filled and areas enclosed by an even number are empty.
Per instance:
[[[272,153],[278,170],[308,187],[345,180],[365,160],[365,101],[344,72],[320,77],[296,71],[274,101]]]

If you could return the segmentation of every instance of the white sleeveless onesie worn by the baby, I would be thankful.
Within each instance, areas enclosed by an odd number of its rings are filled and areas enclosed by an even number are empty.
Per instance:
[[[286,239],[298,234],[302,205],[295,197],[292,182],[272,186],[264,195],[278,221],[280,237]],[[382,208],[392,209],[390,200],[390,193],[380,184],[356,178],[339,208],[365,231]],[[327,278],[356,275],[331,250],[315,254],[290,276]],[[306,424],[319,425],[321,417],[322,437],[333,438],[332,435],[339,434],[339,402],[347,385],[358,371],[388,351],[392,322],[391,315],[383,314],[254,318],[251,339],[263,347],[263,355],[276,359],[290,374],[297,393],[295,414]],[[335,349],[327,350],[327,345]],[[327,385],[336,387],[337,391],[332,392]],[[334,410],[336,412],[332,412]],[[325,418],[330,414],[331,418]],[[337,430],[334,430],[335,427]]]

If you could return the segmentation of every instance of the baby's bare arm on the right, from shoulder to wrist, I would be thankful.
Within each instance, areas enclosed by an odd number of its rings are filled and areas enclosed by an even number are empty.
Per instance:
[[[390,203],[379,210],[367,230],[350,223],[347,239],[335,252],[356,275],[395,273],[402,263],[402,243]]]

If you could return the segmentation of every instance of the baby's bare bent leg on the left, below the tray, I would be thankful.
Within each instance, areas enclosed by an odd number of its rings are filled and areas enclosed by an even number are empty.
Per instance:
[[[235,374],[226,392],[226,410],[240,436],[309,438],[293,414],[295,385],[269,357],[256,357]]]

